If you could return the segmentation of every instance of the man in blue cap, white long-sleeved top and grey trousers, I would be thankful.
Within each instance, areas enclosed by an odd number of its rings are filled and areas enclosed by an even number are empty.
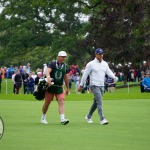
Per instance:
[[[78,91],[82,90],[83,84],[88,75],[90,76],[90,89],[94,95],[94,101],[85,119],[88,123],[93,123],[91,117],[97,108],[100,117],[100,124],[108,124],[102,109],[105,75],[108,75],[114,79],[115,82],[118,81],[118,78],[115,77],[114,73],[110,70],[107,62],[103,60],[103,50],[101,48],[96,49],[95,59],[86,65],[84,74],[78,87]]]

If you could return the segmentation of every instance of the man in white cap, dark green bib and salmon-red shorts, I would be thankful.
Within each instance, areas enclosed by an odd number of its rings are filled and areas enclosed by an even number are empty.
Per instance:
[[[68,76],[66,74],[67,67],[66,64],[64,63],[66,57],[67,57],[66,52],[60,51],[58,53],[58,59],[56,61],[50,62],[47,66],[46,77],[47,77],[47,83],[49,85],[49,88],[45,92],[45,102],[42,108],[41,123],[43,124],[48,123],[46,121],[46,112],[54,96],[58,101],[60,123],[62,125],[66,125],[69,123],[69,120],[65,119],[65,114],[64,114],[64,98],[65,95],[68,95],[69,93],[69,81],[68,81]],[[51,79],[54,80],[53,85],[51,84]],[[65,82],[66,91],[64,91],[63,82]]]

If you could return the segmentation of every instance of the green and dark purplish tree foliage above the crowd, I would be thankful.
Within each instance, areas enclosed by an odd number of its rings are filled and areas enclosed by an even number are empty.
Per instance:
[[[1,5],[0,65],[33,61],[37,67],[60,50],[67,51],[69,64],[84,65],[97,47],[110,62],[149,60],[149,0],[1,0]]]

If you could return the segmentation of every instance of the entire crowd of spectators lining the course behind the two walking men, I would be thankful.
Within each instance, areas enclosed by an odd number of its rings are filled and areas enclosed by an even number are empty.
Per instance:
[[[124,85],[127,84],[127,82],[139,82],[141,92],[145,92],[145,77],[149,77],[150,73],[150,63],[147,63],[146,61],[143,61],[143,63],[140,66],[134,66],[132,63],[127,63],[122,65],[119,63],[118,65],[114,65],[113,63],[108,63],[111,70],[114,72],[114,74],[118,77],[118,82],[123,82]],[[22,91],[23,86],[23,93],[29,94],[33,93],[35,87],[37,87],[39,79],[41,77],[44,77],[45,70],[46,70],[47,64],[43,64],[43,68],[38,68],[35,72],[31,71],[30,63],[28,63],[26,66],[19,66],[19,67],[13,67],[12,65],[9,68],[1,67],[0,69],[0,92],[1,92],[1,82],[3,78],[12,78],[13,81],[13,93],[18,94]],[[83,66],[82,69],[79,68],[78,65],[71,65],[68,67],[68,78],[69,78],[69,88],[72,88],[72,83],[74,82],[75,85],[75,92],[78,93],[78,85],[80,83],[80,78],[82,74],[84,73],[85,67]],[[82,93],[89,93],[89,83],[90,79],[87,78]],[[146,83],[149,83],[149,80],[146,80]],[[150,85],[150,83],[149,83]],[[148,86],[149,86],[148,85]],[[105,90],[108,92],[114,92],[116,84],[114,81],[106,76],[105,81]]]

